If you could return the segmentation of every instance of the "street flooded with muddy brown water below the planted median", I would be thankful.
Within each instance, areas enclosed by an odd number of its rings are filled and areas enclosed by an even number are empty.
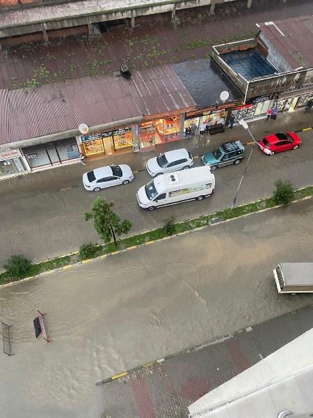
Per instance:
[[[312,199],[0,289],[13,356],[1,417],[100,417],[95,383],[313,302],[278,295],[281,261],[312,261]],[[51,338],[35,339],[45,312]]]

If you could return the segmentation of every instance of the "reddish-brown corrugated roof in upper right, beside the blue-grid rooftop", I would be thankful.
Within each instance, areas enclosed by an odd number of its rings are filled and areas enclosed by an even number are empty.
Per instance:
[[[313,67],[313,16],[260,23],[259,28],[291,68]]]

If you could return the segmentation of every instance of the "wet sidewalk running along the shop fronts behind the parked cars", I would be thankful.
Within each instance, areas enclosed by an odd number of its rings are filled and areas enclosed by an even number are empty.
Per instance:
[[[300,109],[291,114],[279,114],[277,121],[266,121],[265,118],[262,118],[257,121],[248,122],[248,124],[255,139],[258,140],[264,135],[272,132],[284,132],[285,130],[297,131],[306,127],[311,127],[313,125],[312,118],[312,113],[305,114],[303,109]],[[87,162],[85,166],[81,166],[81,164],[77,162],[77,164],[56,166],[44,171],[7,178],[0,181],[0,194],[13,191],[33,192],[47,188],[52,188],[54,190],[66,189],[67,187],[81,185],[81,176],[83,173],[97,167],[110,164],[128,164],[133,171],[141,171],[145,170],[145,163],[147,160],[159,153],[177,148],[187,148],[194,157],[201,156],[203,153],[207,152],[207,150],[214,149],[218,144],[237,139],[240,139],[243,144],[252,141],[250,135],[243,127],[235,125],[234,129],[230,130],[227,128],[225,132],[220,134],[212,136],[208,134],[203,137],[196,135],[193,139],[182,139],[168,144],[160,144],[156,147],[155,151],[147,153],[130,152],[120,155],[109,155],[98,160]]]

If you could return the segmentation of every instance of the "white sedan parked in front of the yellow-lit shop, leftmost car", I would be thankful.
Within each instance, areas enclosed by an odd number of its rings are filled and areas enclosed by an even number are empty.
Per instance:
[[[101,167],[83,174],[83,187],[99,192],[101,189],[116,185],[127,185],[134,180],[134,173],[126,164]]]

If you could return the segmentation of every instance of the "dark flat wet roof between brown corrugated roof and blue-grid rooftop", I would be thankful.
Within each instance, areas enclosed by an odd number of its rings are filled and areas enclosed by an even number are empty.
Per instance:
[[[228,91],[230,97],[227,102],[234,102],[243,98],[236,86],[228,79],[222,70],[208,59],[185,61],[172,65],[179,79],[191,94],[191,97],[200,109],[223,103],[220,93]]]

